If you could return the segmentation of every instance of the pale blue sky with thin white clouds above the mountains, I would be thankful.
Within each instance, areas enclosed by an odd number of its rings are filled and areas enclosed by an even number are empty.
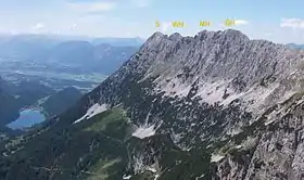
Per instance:
[[[304,43],[302,0],[0,0],[0,33],[142,37],[233,28],[253,39]],[[155,21],[161,27],[155,27]],[[173,21],[186,27],[173,28]],[[211,22],[200,27],[200,21]]]

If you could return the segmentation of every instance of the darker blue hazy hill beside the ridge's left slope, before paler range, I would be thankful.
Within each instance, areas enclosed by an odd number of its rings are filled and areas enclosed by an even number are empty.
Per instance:
[[[58,44],[47,61],[78,65],[91,72],[111,74],[128,60],[139,47],[92,46],[87,41],[67,41]]]

